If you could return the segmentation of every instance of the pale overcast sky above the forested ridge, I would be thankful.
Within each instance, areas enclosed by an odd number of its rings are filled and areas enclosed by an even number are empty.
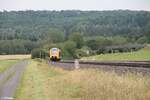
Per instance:
[[[0,0],[0,10],[147,10],[150,0]]]

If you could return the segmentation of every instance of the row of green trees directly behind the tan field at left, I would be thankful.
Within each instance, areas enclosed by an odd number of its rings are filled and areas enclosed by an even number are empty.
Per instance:
[[[29,54],[35,47],[30,40],[0,40],[0,54]]]

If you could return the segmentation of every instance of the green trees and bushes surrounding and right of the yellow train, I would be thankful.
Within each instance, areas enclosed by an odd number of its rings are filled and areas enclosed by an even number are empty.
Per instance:
[[[41,46],[32,51],[33,58],[48,57],[49,50],[53,47],[61,49],[62,59],[74,59],[105,53],[133,52],[146,45],[138,41],[129,42],[127,38],[121,36],[84,37],[79,32],[74,32],[65,39],[64,35],[56,29],[50,29],[46,37]]]

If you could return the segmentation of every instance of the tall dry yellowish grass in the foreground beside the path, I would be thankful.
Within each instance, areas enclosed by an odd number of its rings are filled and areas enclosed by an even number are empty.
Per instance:
[[[97,69],[65,71],[31,61],[15,100],[150,100],[150,78]]]

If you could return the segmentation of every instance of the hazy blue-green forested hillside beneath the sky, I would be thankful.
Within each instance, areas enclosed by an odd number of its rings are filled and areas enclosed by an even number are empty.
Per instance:
[[[133,35],[150,31],[147,11],[11,11],[0,12],[0,39],[38,40],[50,27],[66,35]]]

